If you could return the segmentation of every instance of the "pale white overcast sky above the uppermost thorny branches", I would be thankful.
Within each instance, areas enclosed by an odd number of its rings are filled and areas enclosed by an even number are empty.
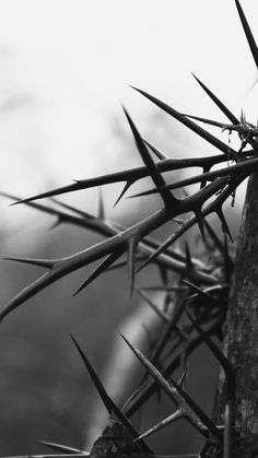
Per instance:
[[[258,2],[242,5],[258,38]],[[154,110],[128,84],[220,119],[191,71],[257,117],[234,0],[0,0],[1,188],[27,196],[127,164],[121,103],[143,132]]]

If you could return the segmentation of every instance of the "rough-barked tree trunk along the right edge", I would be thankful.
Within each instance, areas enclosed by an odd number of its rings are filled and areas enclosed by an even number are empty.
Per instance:
[[[224,353],[236,368],[234,458],[258,457],[258,172],[249,179],[231,289]],[[216,420],[223,419],[221,373]]]

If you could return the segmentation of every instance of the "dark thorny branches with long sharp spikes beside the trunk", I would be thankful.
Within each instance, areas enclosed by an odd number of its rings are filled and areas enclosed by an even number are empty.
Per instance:
[[[253,58],[258,68],[257,45],[239,1],[235,0],[235,4]],[[234,446],[236,435],[239,433],[234,416],[236,367],[214,343],[213,338],[215,337],[219,340],[223,338],[223,324],[228,305],[230,284],[234,267],[234,260],[227,246],[228,238],[232,240],[232,236],[223,213],[223,204],[228,198],[234,201],[236,189],[258,166],[258,125],[248,122],[244,113],[241,114],[239,118],[235,116],[200,79],[197,77],[195,79],[225,115],[228,124],[179,113],[145,91],[133,89],[161,110],[177,119],[213,145],[218,150],[218,154],[209,157],[171,158],[141,137],[133,120],[125,109],[137,150],[143,162],[141,167],[79,180],[69,186],[23,200],[15,196],[2,193],[14,200],[15,204],[23,203],[56,216],[58,224],[68,223],[73,226],[81,226],[102,234],[105,239],[86,247],[80,253],[59,259],[8,258],[42,267],[46,269],[46,273],[32,282],[5,305],[0,313],[1,321],[16,307],[34,297],[51,283],[98,260],[99,265],[85,279],[74,295],[82,292],[108,269],[127,265],[130,292],[132,293],[137,289],[141,297],[152,306],[159,319],[161,319],[162,332],[159,337],[155,337],[150,359],[122,337],[145,369],[143,380],[139,380],[139,388],[129,398],[124,409],[120,409],[108,396],[85,353],[72,337],[75,348],[110,415],[110,422],[102,436],[94,443],[90,453],[66,445],[44,442],[47,447],[55,451],[55,455],[51,455],[54,457],[67,456],[71,458],[78,455],[90,455],[91,457],[125,458],[132,456],[134,458],[146,458],[154,456],[157,458],[159,455],[146,444],[145,438],[178,419],[185,419],[203,438],[201,450],[198,454],[188,455],[188,458],[211,456],[231,458],[237,456]],[[238,150],[225,144],[196,121],[219,127],[222,131],[226,130],[228,133],[234,132],[239,139]],[[212,169],[221,164],[224,164],[224,166]],[[178,181],[168,184],[165,181],[163,173],[191,167],[200,167],[202,172]],[[126,228],[106,221],[103,203],[99,205],[98,216],[93,216],[54,199],[56,196],[80,189],[124,183],[122,191],[116,201],[118,203],[132,185],[148,176],[153,181],[153,188],[130,196],[130,198],[157,193],[162,205],[153,214]],[[173,192],[173,190],[184,189],[194,184],[200,184],[199,190],[184,198],[179,199]],[[43,198],[51,198],[55,205],[38,203],[37,201]],[[185,220],[180,219],[179,216],[185,213],[191,215]],[[221,221],[224,234],[222,240],[207,220],[207,216],[212,213]],[[177,228],[163,243],[151,237],[156,228],[169,221],[175,221]],[[200,258],[191,256],[187,243],[180,251],[173,249],[173,244],[195,225],[199,227],[209,256],[202,255]],[[137,273],[150,263],[157,267],[161,280],[156,286],[150,286],[149,291],[165,292],[162,308],[145,296],[144,289],[136,286]],[[168,280],[171,271],[177,274],[177,280],[173,284]],[[225,414],[222,424],[216,424],[214,420],[207,415],[189,396],[185,384],[187,362],[192,352],[203,343],[210,349],[225,374]],[[175,378],[175,373],[178,369],[181,371],[179,380]],[[148,384],[145,383],[146,379],[149,380]],[[157,391],[164,391],[176,409],[173,411],[172,407],[172,413],[166,419],[149,431],[139,433],[132,425],[130,416],[142,409],[145,402]],[[49,455],[47,456],[49,457]],[[181,457],[184,456],[181,455]],[[173,458],[173,455],[169,457]]]

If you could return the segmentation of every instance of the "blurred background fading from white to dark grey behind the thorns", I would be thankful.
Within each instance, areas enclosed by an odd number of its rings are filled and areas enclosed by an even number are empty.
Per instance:
[[[258,4],[243,0],[242,5],[256,35]],[[191,72],[237,116],[244,108],[256,122],[257,72],[233,0],[0,0],[0,190],[24,198],[140,165],[121,105],[142,136],[172,157],[214,154],[129,87],[183,113],[225,120]],[[226,133],[212,132],[228,141]],[[142,198],[124,199],[114,209],[120,190],[120,185],[103,188],[106,214],[116,222],[128,225],[159,207],[159,198]],[[231,213],[234,234],[244,190]],[[91,189],[60,200],[96,214],[98,197],[99,190]],[[79,228],[51,230],[55,219],[9,204],[0,198],[2,306],[42,272],[4,256],[62,257],[101,239]],[[48,287],[1,326],[0,455],[46,451],[38,439],[81,447],[94,438],[97,401],[69,333],[108,380],[117,332],[138,313],[139,301],[129,300],[126,270],[103,275],[72,298],[90,271]],[[146,271],[141,281],[153,281],[155,273]],[[204,394],[200,402],[209,410],[216,367],[200,363],[203,352],[194,360],[199,378],[192,378],[192,390]],[[150,412],[156,410],[153,401]],[[172,453],[162,434],[157,451]],[[168,437],[177,453],[181,439],[173,427]]]

